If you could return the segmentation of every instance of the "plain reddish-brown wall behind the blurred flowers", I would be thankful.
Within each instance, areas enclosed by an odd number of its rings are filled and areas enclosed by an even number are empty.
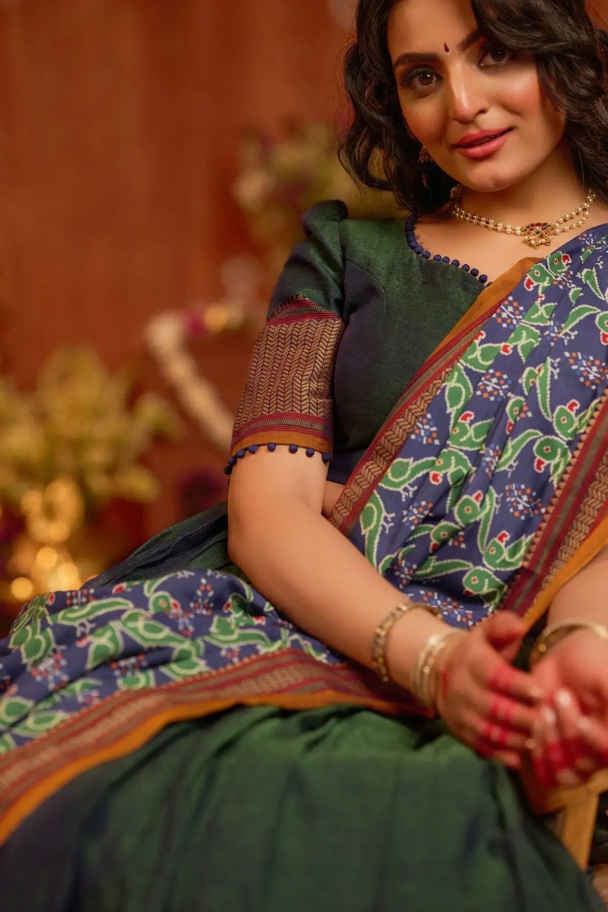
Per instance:
[[[250,242],[232,201],[242,131],[331,120],[349,0],[0,2],[0,357],[23,388],[58,345],[93,342],[167,389],[141,334],[159,310],[222,291]],[[608,18],[608,0],[594,0]],[[251,341],[205,343],[234,407]],[[180,482],[221,470],[189,422],[151,466],[145,533],[180,518]]]

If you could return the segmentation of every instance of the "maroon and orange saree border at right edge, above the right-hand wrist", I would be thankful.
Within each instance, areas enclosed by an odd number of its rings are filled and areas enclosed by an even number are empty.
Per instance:
[[[562,585],[608,542],[608,390],[598,403],[501,608],[532,626]],[[564,571],[567,573],[564,575]],[[559,591],[559,589],[557,590]],[[545,606],[544,609],[541,606]]]

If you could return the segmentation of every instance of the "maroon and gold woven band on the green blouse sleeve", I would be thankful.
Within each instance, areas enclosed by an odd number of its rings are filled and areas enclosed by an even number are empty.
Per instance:
[[[231,458],[264,443],[332,451],[335,355],[344,328],[339,316],[303,295],[277,308],[253,347]]]

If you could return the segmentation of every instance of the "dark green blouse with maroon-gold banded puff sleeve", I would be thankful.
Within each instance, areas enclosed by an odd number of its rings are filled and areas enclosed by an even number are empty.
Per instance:
[[[250,443],[293,438],[311,452],[333,451],[328,478],[345,482],[409,380],[483,286],[456,265],[418,255],[407,243],[404,219],[351,219],[345,204],[333,201],[306,212],[303,226],[306,239],[296,244],[283,268],[269,323],[254,352],[232,454]],[[311,302],[316,307],[304,313]],[[325,336],[304,338],[298,321],[322,323],[322,316],[327,317]],[[285,334],[291,334],[291,342]],[[329,354],[322,358],[324,342]],[[319,383],[324,365],[325,391]],[[293,395],[298,382],[303,389],[319,387],[312,407]],[[325,400],[331,414],[321,432],[314,421]],[[316,418],[310,419],[313,411]],[[298,426],[300,412],[310,419],[305,427]],[[306,437],[304,443],[307,430],[325,442]]]

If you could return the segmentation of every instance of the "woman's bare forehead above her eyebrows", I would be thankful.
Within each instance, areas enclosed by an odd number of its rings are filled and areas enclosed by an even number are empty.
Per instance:
[[[388,19],[388,50],[393,59],[406,50],[443,51],[476,28],[469,0],[398,0]]]

